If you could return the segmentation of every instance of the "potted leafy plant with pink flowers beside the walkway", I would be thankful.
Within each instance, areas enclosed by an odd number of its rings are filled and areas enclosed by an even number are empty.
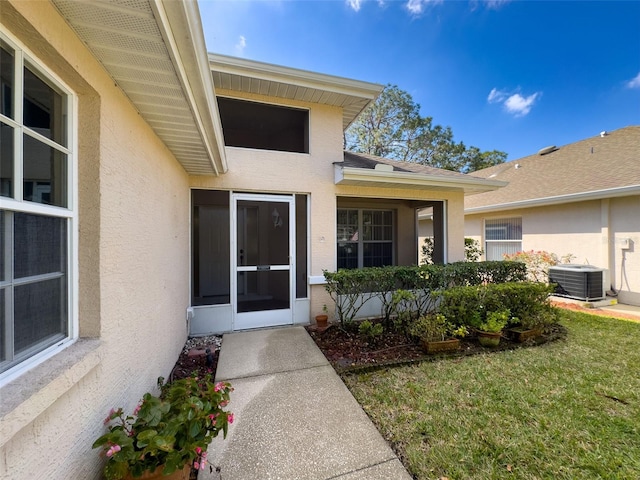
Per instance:
[[[132,415],[112,409],[108,433],[93,443],[102,447],[107,480],[189,478],[191,467],[203,469],[206,448],[219,432],[227,436],[233,414],[223,409],[233,390],[211,375],[163,384],[160,395],[145,393]]]

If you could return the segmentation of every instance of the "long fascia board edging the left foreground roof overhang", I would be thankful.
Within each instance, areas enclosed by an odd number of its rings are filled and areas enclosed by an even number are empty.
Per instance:
[[[215,175],[228,169],[222,135],[222,122],[215,98],[213,80],[197,2],[151,0],[158,28],[165,39],[176,74],[189,100]]]

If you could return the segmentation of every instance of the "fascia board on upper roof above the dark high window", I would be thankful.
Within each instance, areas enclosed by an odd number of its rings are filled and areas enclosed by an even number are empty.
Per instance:
[[[211,70],[215,72],[243,75],[271,82],[289,83],[300,87],[359,97],[365,100],[373,100],[384,90],[384,85],[378,83],[282,67],[227,55],[209,53],[209,63]]]

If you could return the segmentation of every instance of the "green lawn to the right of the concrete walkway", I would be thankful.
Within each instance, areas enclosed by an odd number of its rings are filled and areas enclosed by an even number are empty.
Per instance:
[[[567,341],[346,375],[414,478],[640,478],[640,323],[563,312]]]

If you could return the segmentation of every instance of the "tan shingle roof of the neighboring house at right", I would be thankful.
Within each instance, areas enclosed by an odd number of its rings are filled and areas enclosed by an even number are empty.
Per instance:
[[[630,126],[473,173],[504,180],[501,189],[465,198],[465,210],[504,209],[509,204],[560,203],[592,193],[606,198],[615,189],[640,189],[640,126]],[[521,205],[524,206],[524,205]]]

